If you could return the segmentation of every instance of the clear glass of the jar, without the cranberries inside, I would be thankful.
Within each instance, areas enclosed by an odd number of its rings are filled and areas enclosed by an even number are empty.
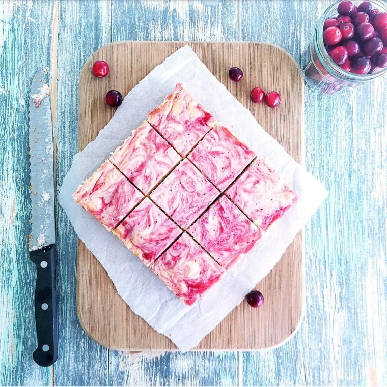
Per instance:
[[[324,21],[330,17],[337,17],[337,7],[341,1],[336,1],[321,16],[312,41],[301,56],[302,75],[306,83],[313,91],[324,94],[334,94],[343,88],[363,84],[387,72],[387,67],[385,67],[371,74],[349,73],[337,65],[328,55],[322,37]],[[379,12],[387,12],[385,0],[370,0],[370,2],[373,8],[377,8]],[[358,6],[361,1],[352,1],[352,3]]]

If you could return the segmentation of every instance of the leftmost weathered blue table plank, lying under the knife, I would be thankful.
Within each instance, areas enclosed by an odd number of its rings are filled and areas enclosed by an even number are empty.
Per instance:
[[[49,63],[53,6],[0,4],[0,385],[49,385],[36,349],[30,232],[27,102],[31,79]],[[39,43],[37,43],[39,42]]]

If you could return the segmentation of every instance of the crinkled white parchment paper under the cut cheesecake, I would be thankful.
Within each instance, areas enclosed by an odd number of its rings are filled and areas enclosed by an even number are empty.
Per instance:
[[[297,204],[191,307],[184,306],[117,237],[72,199],[78,185],[172,92],[177,82],[183,82],[218,121],[226,124],[259,157],[264,157],[299,196]],[[250,111],[212,75],[192,49],[185,46],[135,86],[95,141],[74,156],[62,184],[59,203],[79,238],[101,262],[132,311],[169,337],[180,350],[187,351],[198,345],[268,274],[326,195],[324,187],[262,129]]]

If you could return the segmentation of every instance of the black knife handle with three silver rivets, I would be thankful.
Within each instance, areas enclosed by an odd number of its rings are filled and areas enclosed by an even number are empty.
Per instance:
[[[35,323],[38,348],[33,358],[42,367],[48,367],[58,359],[56,255],[55,244],[30,252],[30,259],[37,269]]]

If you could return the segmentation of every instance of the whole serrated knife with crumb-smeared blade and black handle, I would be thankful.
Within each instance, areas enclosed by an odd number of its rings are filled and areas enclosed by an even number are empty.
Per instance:
[[[58,358],[58,317],[54,207],[54,159],[50,90],[38,69],[29,98],[31,233],[30,259],[37,268],[35,323],[38,347],[33,358],[42,367]]]

